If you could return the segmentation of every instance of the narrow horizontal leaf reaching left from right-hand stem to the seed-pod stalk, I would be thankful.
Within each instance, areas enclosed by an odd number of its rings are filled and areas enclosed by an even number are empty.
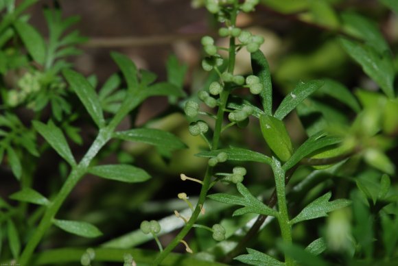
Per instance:
[[[225,152],[228,155],[228,160],[238,160],[245,162],[262,162],[268,165],[272,164],[272,159],[259,152],[250,151],[250,149],[242,149],[231,147],[229,149],[217,149],[210,152],[200,152],[195,154],[198,157],[213,158],[216,157],[220,152]]]

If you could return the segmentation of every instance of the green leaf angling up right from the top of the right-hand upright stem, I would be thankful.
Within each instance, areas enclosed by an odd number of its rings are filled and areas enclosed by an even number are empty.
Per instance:
[[[337,136],[327,136],[325,132],[318,132],[310,136],[307,141],[305,141],[297,150],[294,152],[292,157],[289,158],[287,162],[283,165],[283,170],[288,171],[288,169],[294,167],[301,159],[305,158],[309,154],[316,152],[319,149],[325,147],[336,145],[342,140]]]

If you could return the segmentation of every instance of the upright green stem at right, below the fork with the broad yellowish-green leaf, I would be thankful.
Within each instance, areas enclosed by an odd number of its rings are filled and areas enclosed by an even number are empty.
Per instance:
[[[285,244],[292,244],[292,225],[290,224],[288,204],[286,202],[285,191],[285,171],[283,171],[280,162],[274,160],[272,163],[272,170],[274,171],[275,189],[278,198],[278,221],[281,228],[282,239]],[[294,261],[289,256],[285,255],[285,265],[292,266]]]

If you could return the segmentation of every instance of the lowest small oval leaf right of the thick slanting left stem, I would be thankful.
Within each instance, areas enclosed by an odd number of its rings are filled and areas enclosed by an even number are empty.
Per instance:
[[[77,234],[80,237],[100,237],[102,232],[91,223],[86,223],[85,221],[68,221],[68,220],[58,220],[54,219],[53,223],[58,228],[70,232],[71,234]]]

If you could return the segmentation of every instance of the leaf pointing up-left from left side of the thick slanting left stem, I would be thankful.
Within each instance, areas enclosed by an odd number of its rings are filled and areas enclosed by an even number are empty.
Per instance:
[[[50,120],[47,125],[40,121],[32,122],[37,132],[45,138],[45,140],[64,158],[69,165],[76,165],[75,158],[73,158],[71,149],[67,143],[62,131]]]

